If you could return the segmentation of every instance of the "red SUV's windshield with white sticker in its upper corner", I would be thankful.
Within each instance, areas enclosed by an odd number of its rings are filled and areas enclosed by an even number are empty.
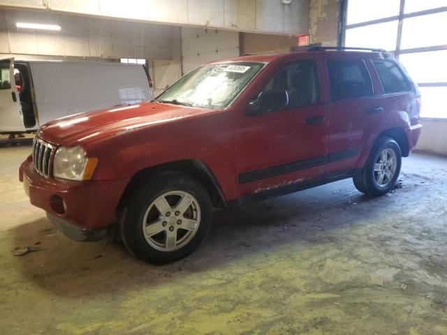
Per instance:
[[[252,62],[200,66],[175,82],[156,101],[193,107],[225,108],[263,66],[263,63]]]

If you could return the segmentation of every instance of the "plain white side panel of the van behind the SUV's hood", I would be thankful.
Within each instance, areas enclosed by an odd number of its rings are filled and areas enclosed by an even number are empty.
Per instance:
[[[133,64],[30,61],[38,124],[91,110],[149,101],[145,70]]]

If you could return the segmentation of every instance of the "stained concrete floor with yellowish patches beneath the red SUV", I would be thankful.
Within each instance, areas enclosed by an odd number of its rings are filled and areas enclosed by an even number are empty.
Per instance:
[[[29,151],[0,148],[0,334],[447,334],[446,158],[404,159],[383,198],[348,179],[217,212],[153,266],[54,231],[17,180]]]

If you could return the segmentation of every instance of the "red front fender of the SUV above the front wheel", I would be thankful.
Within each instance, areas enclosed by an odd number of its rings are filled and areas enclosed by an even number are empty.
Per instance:
[[[95,180],[127,179],[164,163],[201,161],[219,182],[226,200],[237,197],[231,110],[119,133],[88,144],[99,158]]]

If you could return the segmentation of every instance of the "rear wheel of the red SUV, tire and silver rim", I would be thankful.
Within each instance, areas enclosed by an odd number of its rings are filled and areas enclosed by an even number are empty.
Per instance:
[[[385,155],[386,159],[383,159]],[[365,195],[372,197],[384,195],[395,186],[401,166],[402,152],[399,144],[390,137],[379,137],[365,166],[353,176],[354,185]]]

